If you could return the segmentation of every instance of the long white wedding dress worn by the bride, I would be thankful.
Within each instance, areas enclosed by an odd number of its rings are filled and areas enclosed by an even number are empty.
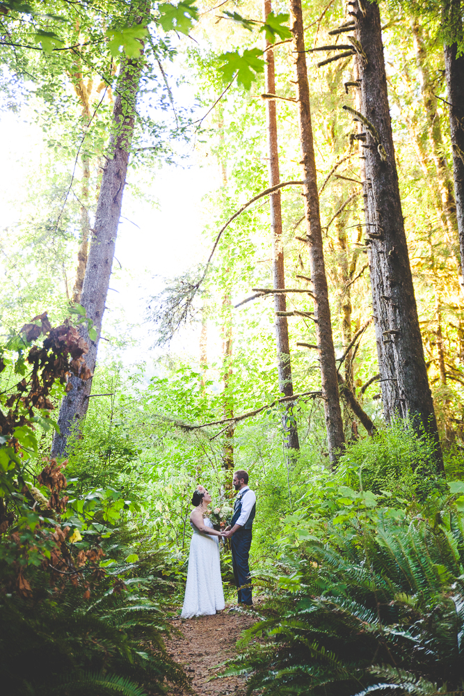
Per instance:
[[[193,535],[182,619],[216,614],[216,611],[225,608],[218,537],[200,532],[192,522],[191,526]],[[205,526],[213,528],[208,517],[205,518]]]

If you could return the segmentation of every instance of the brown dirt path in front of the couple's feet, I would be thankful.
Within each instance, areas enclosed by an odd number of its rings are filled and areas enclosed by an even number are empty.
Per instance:
[[[173,626],[182,637],[173,635],[166,641],[168,653],[184,666],[186,674],[192,678],[191,685],[198,696],[225,696],[245,693],[243,677],[211,677],[221,671],[217,665],[236,654],[235,643],[241,631],[253,626],[256,619],[241,612],[228,612],[227,608],[214,616],[199,616],[194,619],[173,621]],[[179,688],[173,688],[170,696],[184,696]]]

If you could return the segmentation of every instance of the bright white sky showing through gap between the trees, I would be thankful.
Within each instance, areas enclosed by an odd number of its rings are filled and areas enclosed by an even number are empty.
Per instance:
[[[189,93],[184,92],[189,98]],[[3,138],[0,143],[0,205],[1,228],[14,226],[20,215],[19,201],[25,196],[27,176],[37,167],[44,147],[40,127],[24,115],[10,111],[0,114]],[[8,134],[8,137],[6,137]],[[38,168],[38,167],[37,167]],[[143,174],[147,180],[146,173]],[[131,180],[129,175],[129,182]],[[157,198],[159,205],[134,200],[130,186],[125,189],[122,218],[116,242],[113,276],[110,281],[106,322],[125,317],[129,324],[140,324],[131,329],[137,345],[125,351],[125,363],[159,354],[149,352],[154,335],[147,335],[143,325],[145,299],[157,294],[163,287],[163,278],[177,276],[189,267],[202,262],[209,253],[209,242],[201,232],[207,210],[202,198],[218,185],[218,169],[209,166],[205,158],[191,152],[182,166],[163,166],[152,173],[147,193]],[[24,192],[24,193],[23,193]],[[121,264],[122,269],[120,269]],[[124,330],[124,319],[120,324]],[[104,330],[102,335],[105,335]],[[192,345],[191,331],[183,332],[173,342],[176,352],[198,352],[197,341]],[[211,345],[210,348],[214,350]],[[106,347],[102,342],[101,348]]]

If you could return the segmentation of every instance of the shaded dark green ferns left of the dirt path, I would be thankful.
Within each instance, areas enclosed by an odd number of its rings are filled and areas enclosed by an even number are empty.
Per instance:
[[[59,591],[47,587],[40,573],[33,596],[3,594],[0,672],[6,693],[136,695],[164,693],[165,680],[186,685],[161,640],[168,630],[163,555],[127,528],[113,530],[103,548],[106,573],[93,583],[90,597],[72,584]]]

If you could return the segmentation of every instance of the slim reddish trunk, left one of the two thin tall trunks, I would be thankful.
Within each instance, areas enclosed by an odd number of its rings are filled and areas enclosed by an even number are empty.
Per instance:
[[[271,0],[264,0],[264,21],[272,10]],[[266,80],[266,93],[275,94],[275,65],[274,52],[269,48],[271,44],[266,40],[266,56],[264,75]],[[267,146],[268,146],[268,169],[269,186],[280,184],[279,171],[279,152],[277,140],[277,118],[275,113],[275,101],[266,100],[266,121],[267,121]],[[280,191],[276,191],[269,196],[271,206],[271,229],[272,229],[272,250],[273,250],[273,286],[275,289],[285,287],[285,267],[284,267],[284,248],[282,245],[282,209],[280,205]],[[289,346],[289,328],[287,317],[279,317],[278,312],[287,311],[287,299],[284,293],[274,294],[275,308],[275,343],[277,348],[277,365],[279,390],[285,396],[293,396],[294,386],[291,379],[291,358]],[[282,416],[282,426],[285,448],[299,450],[298,429],[296,421],[289,419],[294,403],[288,402],[285,406],[285,413]]]

